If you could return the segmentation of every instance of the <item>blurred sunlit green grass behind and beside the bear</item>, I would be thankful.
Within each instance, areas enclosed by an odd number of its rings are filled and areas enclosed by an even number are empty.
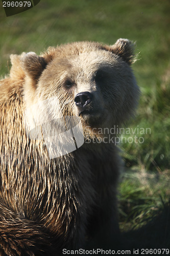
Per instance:
[[[91,40],[136,41],[133,65],[141,98],[129,127],[149,127],[143,143],[122,143],[126,172],[119,186],[120,229],[135,244],[170,247],[170,2],[169,0],[41,0],[6,17],[0,10],[0,76],[11,53],[43,52],[48,46]],[[125,135],[140,137],[135,134]],[[141,243],[142,241],[142,243]]]

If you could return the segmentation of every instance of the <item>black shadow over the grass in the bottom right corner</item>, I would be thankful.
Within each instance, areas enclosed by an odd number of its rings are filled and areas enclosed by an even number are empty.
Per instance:
[[[105,238],[105,236],[103,236],[103,238]],[[100,251],[96,253],[98,255],[140,255],[141,252],[148,255],[169,255],[169,248],[170,200],[168,203],[164,204],[163,209],[157,214],[156,217],[154,217],[152,220],[148,220],[147,224],[143,224],[141,228],[122,232],[120,236],[111,238],[110,242],[100,241],[100,239],[96,237],[90,241],[87,241],[86,246],[86,250],[93,250],[94,253],[97,252],[97,249],[103,250],[103,252]],[[134,251],[136,253],[134,253]]]

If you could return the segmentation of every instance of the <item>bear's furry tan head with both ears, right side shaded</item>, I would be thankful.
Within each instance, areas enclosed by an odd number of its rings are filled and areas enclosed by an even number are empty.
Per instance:
[[[76,116],[85,132],[123,124],[133,115],[139,97],[133,61],[134,45],[127,39],[112,46],[75,42],[41,56],[27,53],[21,58],[26,105],[41,102],[33,110],[35,122]]]

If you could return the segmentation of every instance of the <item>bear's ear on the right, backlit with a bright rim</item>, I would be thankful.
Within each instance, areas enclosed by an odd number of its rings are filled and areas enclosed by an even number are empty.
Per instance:
[[[124,61],[126,61],[129,65],[131,65],[134,60],[134,48],[135,44],[128,39],[120,38],[116,41],[113,46],[108,46],[109,51],[118,55]]]

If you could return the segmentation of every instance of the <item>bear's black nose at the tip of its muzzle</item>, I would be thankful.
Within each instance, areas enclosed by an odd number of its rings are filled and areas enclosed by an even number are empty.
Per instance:
[[[89,92],[78,93],[75,97],[75,102],[77,106],[85,108],[92,100],[92,94]]]

